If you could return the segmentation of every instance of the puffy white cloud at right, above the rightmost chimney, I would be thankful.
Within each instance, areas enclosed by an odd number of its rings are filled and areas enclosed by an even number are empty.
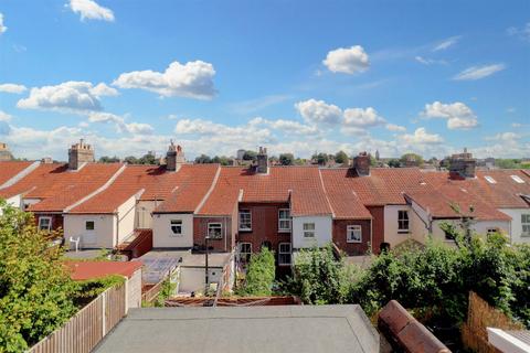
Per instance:
[[[443,104],[434,101],[426,104],[422,115],[427,118],[447,119],[447,128],[454,129],[471,129],[478,126],[477,116],[464,103]]]

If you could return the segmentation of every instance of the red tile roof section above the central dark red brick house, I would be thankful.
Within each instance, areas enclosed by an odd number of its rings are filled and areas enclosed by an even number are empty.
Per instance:
[[[230,215],[237,201],[290,201],[294,216],[332,213],[316,167],[271,167],[268,174],[258,174],[248,168],[223,167],[199,214]]]

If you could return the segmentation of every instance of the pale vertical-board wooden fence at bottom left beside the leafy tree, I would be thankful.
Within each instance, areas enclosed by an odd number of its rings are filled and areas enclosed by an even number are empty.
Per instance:
[[[29,353],[88,353],[127,313],[125,284],[109,288]]]

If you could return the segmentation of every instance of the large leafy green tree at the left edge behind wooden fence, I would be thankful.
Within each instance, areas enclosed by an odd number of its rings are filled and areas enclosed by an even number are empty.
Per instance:
[[[33,217],[0,210],[0,351],[21,352],[72,317],[75,285]]]

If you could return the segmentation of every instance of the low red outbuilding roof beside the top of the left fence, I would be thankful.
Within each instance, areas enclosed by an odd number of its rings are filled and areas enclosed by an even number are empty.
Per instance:
[[[109,275],[120,275],[131,278],[144,265],[141,261],[65,261],[72,270],[73,280],[102,278]]]

